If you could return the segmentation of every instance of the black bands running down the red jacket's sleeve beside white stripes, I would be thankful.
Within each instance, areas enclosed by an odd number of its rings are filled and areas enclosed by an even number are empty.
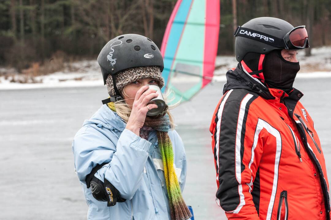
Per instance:
[[[220,135],[219,135],[219,170],[218,180],[219,187],[216,192],[216,197],[219,199],[220,206],[225,211],[235,210],[240,204],[238,193],[238,181],[235,173],[235,144],[237,123],[240,110],[240,104],[245,96],[249,94],[245,89],[234,89],[228,97],[221,118]],[[244,153],[244,137],[246,131],[246,120],[250,104],[258,96],[253,96],[247,103],[243,118],[243,126],[241,130],[241,171],[245,169],[242,163]]]

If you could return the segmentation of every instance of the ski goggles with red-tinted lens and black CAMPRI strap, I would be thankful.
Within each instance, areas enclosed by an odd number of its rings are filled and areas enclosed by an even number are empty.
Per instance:
[[[298,26],[289,31],[283,38],[278,38],[250,28],[238,26],[234,36],[249,38],[274,47],[290,50],[308,48],[308,33],[305,25]]]

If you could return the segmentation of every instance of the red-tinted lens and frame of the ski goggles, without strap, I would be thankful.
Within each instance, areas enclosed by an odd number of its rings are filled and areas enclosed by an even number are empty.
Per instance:
[[[293,28],[284,38],[285,49],[304,49],[308,48],[308,33],[305,25]]]

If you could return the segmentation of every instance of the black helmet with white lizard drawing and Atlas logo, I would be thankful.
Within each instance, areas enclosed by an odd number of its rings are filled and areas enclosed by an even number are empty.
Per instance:
[[[164,67],[159,48],[153,41],[138,34],[123,34],[110,40],[100,51],[98,63],[104,84],[109,74],[115,75],[124,69],[159,66],[162,72]]]

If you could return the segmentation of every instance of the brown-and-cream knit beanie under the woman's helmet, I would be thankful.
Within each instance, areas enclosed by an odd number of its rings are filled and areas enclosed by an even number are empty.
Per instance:
[[[164,79],[161,76],[160,67],[158,66],[144,66],[144,67],[133,67],[129,69],[122,70],[115,74],[116,87],[118,92],[121,93],[124,86],[134,82],[138,79],[152,78],[158,81],[158,86],[162,88],[165,84]],[[106,79],[108,94],[110,96],[115,96],[113,76],[108,75]]]

